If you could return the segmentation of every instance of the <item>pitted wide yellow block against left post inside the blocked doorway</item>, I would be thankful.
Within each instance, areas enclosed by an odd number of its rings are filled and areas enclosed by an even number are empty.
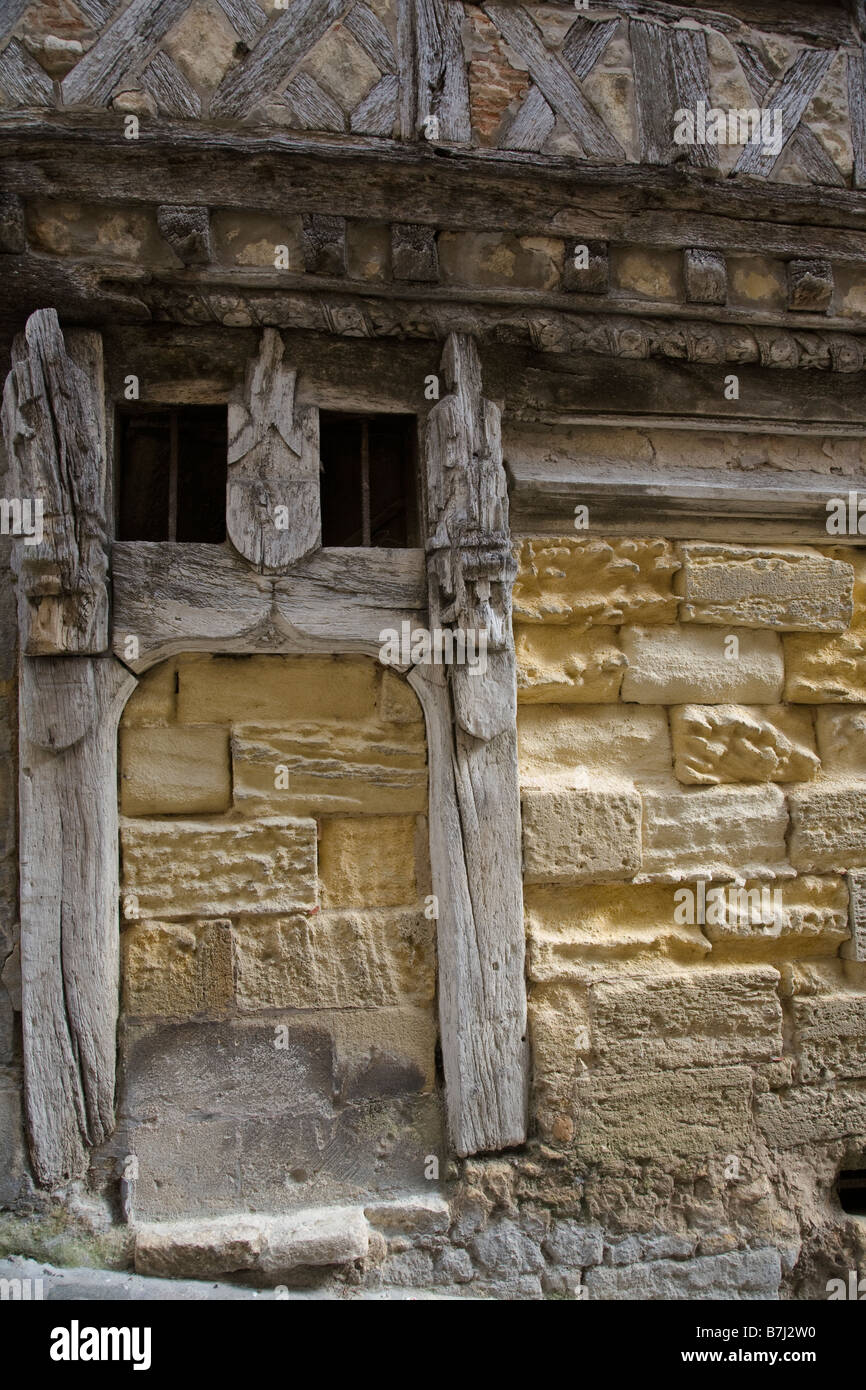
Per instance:
[[[314,820],[124,820],[121,848],[126,920],[316,906]]]

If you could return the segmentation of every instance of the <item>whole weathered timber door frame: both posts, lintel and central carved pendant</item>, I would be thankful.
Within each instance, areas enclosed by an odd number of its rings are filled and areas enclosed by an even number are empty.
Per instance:
[[[110,491],[100,346],[97,334],[81,334],[67,349],[56,311],[39,310],[15,341],[4,396],[19,485],[51,499],[42,545],[19,542],[15,560],[24,1061],[35,1175],[49,1187],[82,1176],[89,1150],[114,1127],[117,726],[136,676],[179,651],[377,656],[382,632],[403,623],[488,634],[485,676],[416,667],[409,680],[428,731],[450,1144],[459,1155],[521,1144],[528,1047],[514,560],[499,411],[481,395],[474,342],[448,339],[449,395],[427,425],[427,564],[421,550],[321,549],[317,411],[296,409],[296,374],[282,361],[279,334],[265,329],[243,399],[229,404],[227,506],[240,555],[228,543],[115,543],[111,631],[99,621],[107,619]],[[274,528],[278,507],[288,528]],[[31,655],[35,631],[39,655]]]

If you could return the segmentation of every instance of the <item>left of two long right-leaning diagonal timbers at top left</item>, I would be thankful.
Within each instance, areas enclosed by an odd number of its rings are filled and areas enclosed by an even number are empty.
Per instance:
[[[104,106],[118,82],[147,61],[188,0],[132,0],[63,79],[65,106]]]

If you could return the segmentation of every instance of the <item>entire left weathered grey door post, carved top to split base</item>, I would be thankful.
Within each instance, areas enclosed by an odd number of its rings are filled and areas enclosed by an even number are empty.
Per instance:
[[[21,994],[28,1134],[47,1186],[114,1127],[117,716],[135,677],[108,646],[101,339],[39,310],[13,348],[3,432],[44,534],[15,546]],[[33,537],[36,541],[36,537]],[[86,653],[86,655],[85,655]]]

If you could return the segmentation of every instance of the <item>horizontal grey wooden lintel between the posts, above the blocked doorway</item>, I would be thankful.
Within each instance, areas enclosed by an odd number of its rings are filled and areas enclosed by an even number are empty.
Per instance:
[[[378,652],[427,609],[423,550],[316,550],[281,578],[221,545],[126,541],[111,560],[113,649],[135,671],[183,651]]]

